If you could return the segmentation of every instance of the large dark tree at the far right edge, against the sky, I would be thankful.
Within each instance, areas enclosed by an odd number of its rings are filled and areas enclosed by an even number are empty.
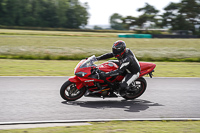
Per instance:
[[[182,0],[180,3],[170,3],[164,8],[162,26],[170,26],[172,30],[191,30],[199,32],[200,26],[199,0]]]

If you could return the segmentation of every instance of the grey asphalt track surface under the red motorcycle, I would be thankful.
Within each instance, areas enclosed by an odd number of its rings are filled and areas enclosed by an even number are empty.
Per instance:
[[[135,100],[82,97],[66,102],[68,77],[0,77],[0,123],[97,119],[200,118],[200,78],[145,78]]]

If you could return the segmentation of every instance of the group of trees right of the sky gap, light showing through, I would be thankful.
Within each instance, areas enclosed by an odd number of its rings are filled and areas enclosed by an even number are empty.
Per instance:
[[[179,3],[171,2],[164,8],[164,13],[146,3],[142,8],[137,9],[143,14],[134,17],[122,17],[114,13],[110,17],[111,28],[123,30],[134,28],[146,28],[150,24],[152,28],[170,28],[171,30],[190,30],[193,34],[200,35],[200,0],[181,0]]]

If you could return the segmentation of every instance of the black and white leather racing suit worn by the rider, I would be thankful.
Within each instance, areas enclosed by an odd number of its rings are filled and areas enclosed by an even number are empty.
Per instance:
[[[103,60],[114,57],[113,53],[107,53],[97,57],[97,60]],[[122,58],[118,58],[119,67],[117,70],[106,73],[106,76],[117,76],[123,74],[127,71],[122,83],[120,84],[121,89],[126,89],[134,80],[136,80],[140,75],[140,65],[130,49],[126,49]]]

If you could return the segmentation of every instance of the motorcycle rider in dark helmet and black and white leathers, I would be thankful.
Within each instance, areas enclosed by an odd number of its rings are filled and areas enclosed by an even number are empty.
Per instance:
[[[107,53],[97,57],[97,60],[103,60],[116,57],[119,61],[119,67],[117,70],[111,72],[101,72],[100,77],[105,79],[110,76],[117,76],[123,74],[125,71],[127,74],[120,83],[122,95],[125,95],[125,91],[128,90],[129,85],[135,81],[140,75],[140,65],[129,48],[126,48],[126,43],[124,41],[116,41],[112,46],[112,53]]]

